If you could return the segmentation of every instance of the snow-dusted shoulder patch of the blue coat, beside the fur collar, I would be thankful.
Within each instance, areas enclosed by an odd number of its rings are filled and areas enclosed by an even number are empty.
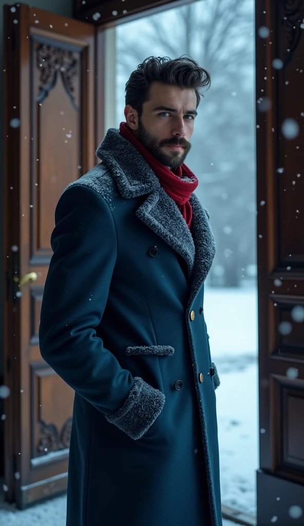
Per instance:
[[[103,163],[100,163],[86,174],[79,177],[72,183],[69,183],[64,189],[64,192],[71,186],[87,186],[92,188],[107,201],[108,206],[112,210],[113,197],[118,196],[118,189],[114,177]]]

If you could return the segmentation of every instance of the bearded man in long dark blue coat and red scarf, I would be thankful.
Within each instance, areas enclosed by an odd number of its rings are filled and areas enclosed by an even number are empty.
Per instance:
[[[184,164],[210,76],[148,57],[126,123],[60,197],[42,357],[75,390],[67,526],[221,526],[216,395],[204,320],[215,255]]]

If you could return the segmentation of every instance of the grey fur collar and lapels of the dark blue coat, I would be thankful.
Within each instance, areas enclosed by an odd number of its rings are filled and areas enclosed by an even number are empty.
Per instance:
[[[192,234],[175,201],[139,151],[116,128],[109,128],[96,155],[115,178],[119,192],[130,199],[148,194],[136,210],[137,217],[167,242],[188,265],[191,279],[189,305],[204,283],[215,256],[215,239],[209,214],[192,194]]]

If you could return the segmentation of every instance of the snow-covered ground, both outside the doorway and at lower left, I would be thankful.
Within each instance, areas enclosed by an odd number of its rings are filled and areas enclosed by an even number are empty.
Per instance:
[[[257,290],[206,287],[204,314],[211,358],[221,381],[216,398],[222,504],[256,515]],[[65,495],[20,511],[5,503],[0,493],[3,526],[65,526],[65,516]],[[234,524],[223,520],[223,526]]]

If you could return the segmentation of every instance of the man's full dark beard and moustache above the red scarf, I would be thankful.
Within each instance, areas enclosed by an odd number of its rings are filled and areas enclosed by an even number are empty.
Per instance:
[[[160,163],[163,163],[165,166],[167,166],[170,170],[175,170],[184,163],[190,149],[191,144],[188,143],[185,139],[178,140],[177,138],[167,139],[164,141],[161,141],[160,145],[158,143],[158,140],[151,135],[144,127],[144,125],[141,123],[141,120],[138,120],[138,131],[137,131],[137,138],[140,140],[140,142],[147,148],[147,150],[154,155],[154,157],[160,161]],[[177,146],[181,145],[184,147],[184,150],[175,151],[172,150],[171,155],[166,154],[163,146]]]

